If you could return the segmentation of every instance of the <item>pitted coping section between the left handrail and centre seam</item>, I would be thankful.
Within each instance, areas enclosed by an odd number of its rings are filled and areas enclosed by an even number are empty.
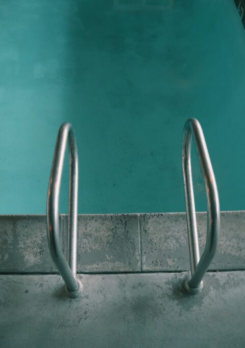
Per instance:
[[[78,272],[140,271],[138,214],[79,215]]]

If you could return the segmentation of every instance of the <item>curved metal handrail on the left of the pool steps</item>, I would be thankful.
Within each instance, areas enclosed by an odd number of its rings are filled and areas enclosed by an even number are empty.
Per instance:
[[[63,172],[65,149],[69,139],[70,179],[68,209],[67,260],[60,244],[59,195]],[[77,273],[77,220],[78,220],[78,150],[74,129],[70,123],[63,123],[59,129],[50,184],[47,194],[47,240],[50,253],[65,281],[65,291],[70,297],[77,297],[82,283]]]

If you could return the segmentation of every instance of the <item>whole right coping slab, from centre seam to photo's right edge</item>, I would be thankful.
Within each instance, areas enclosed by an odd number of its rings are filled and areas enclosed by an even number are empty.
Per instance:
[[[207,214],[197,213],[200,252],[206,243]],[[185,213],[140,214],[143,271],[189,269]],[[245,269],[245,212],[220,214],[220,237],[210,270]]]

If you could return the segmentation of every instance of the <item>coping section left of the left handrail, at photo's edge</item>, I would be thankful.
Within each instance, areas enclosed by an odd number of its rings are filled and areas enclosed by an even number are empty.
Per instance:
[[[48,249],[45,215],[2,215],[0,231],[0,272],[57,272]]]

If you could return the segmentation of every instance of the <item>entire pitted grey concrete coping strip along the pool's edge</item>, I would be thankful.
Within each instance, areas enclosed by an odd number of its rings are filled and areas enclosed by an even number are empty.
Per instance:
[[[67,216],[61,216],[66,250]],[[0,272],[53,273],[44,215],[0,216]],[[206,214],[198,213],[201,251]],[[142,258],[141,258],[142,255]],[[185,213],[79,215],[78,272],[185,271],[189,252]],[[245,212],[221,213],[211,270],[245,269]]]

